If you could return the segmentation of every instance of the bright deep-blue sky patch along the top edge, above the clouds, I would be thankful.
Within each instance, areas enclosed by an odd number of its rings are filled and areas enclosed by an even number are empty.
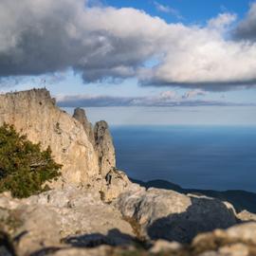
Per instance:
[[[234,12],[243,18],[247,13],[248,6],[252,1],[247,0],[105,0],[102,1],[106,6],[117,8],[143,9],[153,16],[160,16],[168,23],[182,22],[185,24],[205,24],[207,20],[217,16],[220,12]],[[156,3],[164,7],[175,9],[183,17],[179,19],[173,13],[160,11],[156,8]]]

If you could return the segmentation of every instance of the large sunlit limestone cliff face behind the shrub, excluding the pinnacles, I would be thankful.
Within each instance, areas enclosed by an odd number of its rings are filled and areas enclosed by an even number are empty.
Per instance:
[[[4,122],[43,148],[50,146],[69,183],[86,183],[100,173],[98,153],[82,123],[59,109],[46,89],[0,95],[0,125]]]

